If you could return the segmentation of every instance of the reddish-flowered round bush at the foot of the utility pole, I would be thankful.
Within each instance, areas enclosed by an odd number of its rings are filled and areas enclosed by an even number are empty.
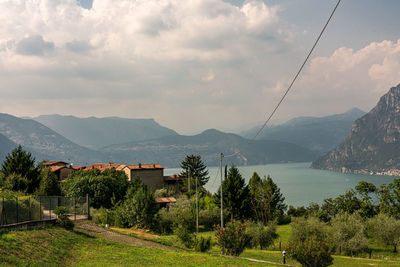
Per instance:
[[[250,241],[246,234],[246,225],[239,221],[231,221],[225,228],[217,225],[215,235],[224,255],[239,256]]]

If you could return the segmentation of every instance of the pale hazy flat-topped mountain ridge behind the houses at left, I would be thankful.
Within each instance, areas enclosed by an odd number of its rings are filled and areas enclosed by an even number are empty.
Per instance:
[[[174,130],[161,126],[153,119],[77,118],[62,115],[42,115],[33,119],[72,142],[94,149],[112,144],[177,135]]]

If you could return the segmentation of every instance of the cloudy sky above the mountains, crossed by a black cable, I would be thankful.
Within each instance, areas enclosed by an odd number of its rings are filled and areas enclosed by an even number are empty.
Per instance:
[[[0,112],[263,122],[336,0],[0,0]],[[273,122],[369,111],[400,83],[400,1],[342,0]]]

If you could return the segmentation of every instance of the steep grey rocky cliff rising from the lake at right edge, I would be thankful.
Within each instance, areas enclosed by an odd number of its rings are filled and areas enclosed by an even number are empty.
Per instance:
[[[313,168],[354,173],[400,174],[400,84],[356,120],[346,140]]]

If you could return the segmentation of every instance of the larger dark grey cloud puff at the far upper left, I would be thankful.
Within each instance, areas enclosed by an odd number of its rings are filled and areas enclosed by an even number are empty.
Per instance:
[[[26,37],[17,43],[16,52],[21,55],[43,56],[54,50],[54,43],[46,42],[40,35]]]

